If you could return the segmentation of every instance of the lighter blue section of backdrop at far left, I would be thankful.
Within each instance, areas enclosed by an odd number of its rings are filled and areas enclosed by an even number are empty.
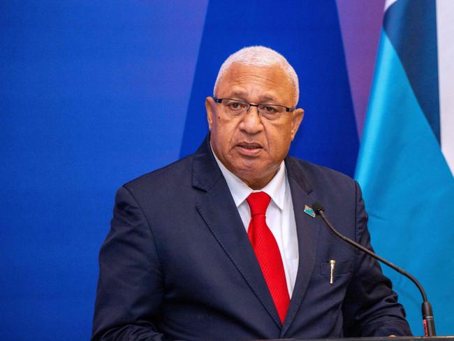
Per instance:
[[[0,338],[88,340],[115,190],[174,161],[207,1],[1,1]]]

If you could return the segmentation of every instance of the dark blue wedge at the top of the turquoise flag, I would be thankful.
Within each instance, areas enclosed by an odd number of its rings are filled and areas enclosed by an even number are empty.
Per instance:
[[[383,27],[440,143],[436,4],[427,0],[396,1],[386,10]]]

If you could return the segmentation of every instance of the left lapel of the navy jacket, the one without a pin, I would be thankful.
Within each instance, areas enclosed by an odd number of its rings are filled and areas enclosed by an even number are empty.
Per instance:
[[[251,287],[274,323],[281,328],[279,315],[261,273],[254,249],[207,140],[193,159],[193,186],[206,191],[204,200],[196,207],[214,238]]]

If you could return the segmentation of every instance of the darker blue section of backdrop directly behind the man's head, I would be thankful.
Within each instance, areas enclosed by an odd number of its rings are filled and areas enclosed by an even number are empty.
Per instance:
[[[353,175],[358,134],[335,1],[210,1],[181,156],[207,133],[204,100],[219,66],[248,45],[281,52],[300,77],[306,117],[291,154]]]

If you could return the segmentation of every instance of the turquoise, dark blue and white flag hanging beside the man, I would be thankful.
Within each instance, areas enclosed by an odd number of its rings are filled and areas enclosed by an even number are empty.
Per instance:
[[[454,1],[387,1],[356,179],[376,252],[414,275],[454,334]],[[421,296],[384,266],[423,335]]]

